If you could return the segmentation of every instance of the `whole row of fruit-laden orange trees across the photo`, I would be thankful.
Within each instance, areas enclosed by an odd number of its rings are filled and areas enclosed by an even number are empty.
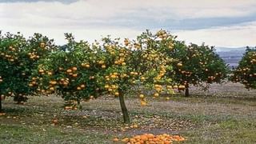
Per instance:
[[[111,94],[120,100],[124,121],[130,122],[124,101],[129,90],[139,91],[146,106],[147,97],[175,90],[185,90],[188,96],[190,85],[206,83],[207,88],[230,73],[214,47],[187,46],[165,30],[146,30],[134,40],[106,37],[92,44],[65,36],[67,43],[55,46],[42,34],[28,39],[1,34],[1,100],[12,96],[24,102],[28,95],[57,94],[66,100],[66,109],[77,109],[80,102]],[[255,58],[255,49],[248,49],[231,79],[256,88]]]

